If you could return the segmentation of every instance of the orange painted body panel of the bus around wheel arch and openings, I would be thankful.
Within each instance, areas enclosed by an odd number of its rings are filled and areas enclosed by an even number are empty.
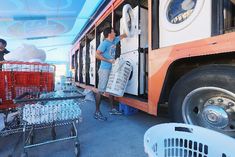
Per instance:
[[[109,6],[94,22],[95,27],[100,25],[102,21],[105,20],[105,18],[110,14],[112,14],[113,19],[113,10],[119,7],[122,3],[124,3],[124,0],[112,1],[112,5]],[[235,51],[235,32],[153,50],[151,33],[151,4],[152,0],[148,0],[148,100],[141,101],[135,98],[127,97],[116,98],[116,100],[143,110],[149,114],[157,115],[160,95],[162,93],[164,81],[171,64],[183,58],[193,58],[197,56],[208,56],[233,52]],[[112,21],[112,23],[113,22],[115,21]],[[85,36],[85,33],[81,36],[81,38]],[[71,50],[71,54],[73,54],[76,49],[79,49],[79,45],[80,41],[78,40],[74,44]],[[76,84],[82,88],[87,88],[93,90],[94,92],[98,92],[97,88],[95,87],[87,86],[78,82]]]

